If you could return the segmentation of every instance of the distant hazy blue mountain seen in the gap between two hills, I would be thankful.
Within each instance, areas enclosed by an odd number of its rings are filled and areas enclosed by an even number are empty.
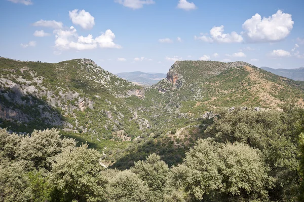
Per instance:
[[[119,73],[117,76],[135,84],[151,86],[166,78],[167,75],[161,73],[126,72]]]

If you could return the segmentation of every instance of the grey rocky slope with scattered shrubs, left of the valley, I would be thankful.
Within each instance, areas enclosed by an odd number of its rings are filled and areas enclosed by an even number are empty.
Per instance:
[[[59,127],[112,138],[119,130],[139,133],[149,123],[125,98],[144,90],[104,71],[90,59],[59,63],[0,58],[0,126],[17,132]]]

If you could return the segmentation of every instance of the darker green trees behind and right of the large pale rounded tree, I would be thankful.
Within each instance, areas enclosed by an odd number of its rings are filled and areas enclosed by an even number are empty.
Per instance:
[[[224,143],[241,142],[262,152],[262,159],[270,167],[274,187],[269,190],[271,200],[296,199],[299,174],[298,135],[304,128],[303,109],[287,106],[277,110],[252,111],[236,109],[221,113],[205,134]]]

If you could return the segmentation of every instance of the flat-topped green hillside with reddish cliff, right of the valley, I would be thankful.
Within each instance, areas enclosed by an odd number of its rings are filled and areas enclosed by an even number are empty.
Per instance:
[[[177,61],[152,88],[162,93],[159,127],[198,120],[221,107],[280,108],[286,100],[303,104],[304,82],[293,81],[245,62]],[[147,91],[153,92],[153,90]],[[152,111],[152,110],[151,110]],[[163,112],[163,113],[162,113]],[[166,117],[167,113],[170,113]],[[166,118],[163,118],[166,117]],[[164,122],[164,120],[166,120]]]

